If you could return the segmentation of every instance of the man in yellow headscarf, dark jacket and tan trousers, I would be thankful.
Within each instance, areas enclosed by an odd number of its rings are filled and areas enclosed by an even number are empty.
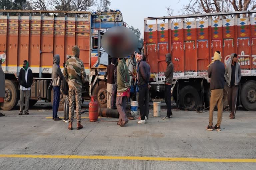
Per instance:
[[[208,77],[211,78],[210,90],[210,110],[209,110],[209,125],[206,128],[209,131],[213,129],[221,131],[220,124],[222,120],[222,111],[223,111],[223,88],[224,88],[224,74],[225,67],[221,62],[220,51],[215,51],[213,56],[213,61],[208,65]],[[213,121],[213,111],[217,104],[218,107],[218,121],[214,128],[212,128]]]

